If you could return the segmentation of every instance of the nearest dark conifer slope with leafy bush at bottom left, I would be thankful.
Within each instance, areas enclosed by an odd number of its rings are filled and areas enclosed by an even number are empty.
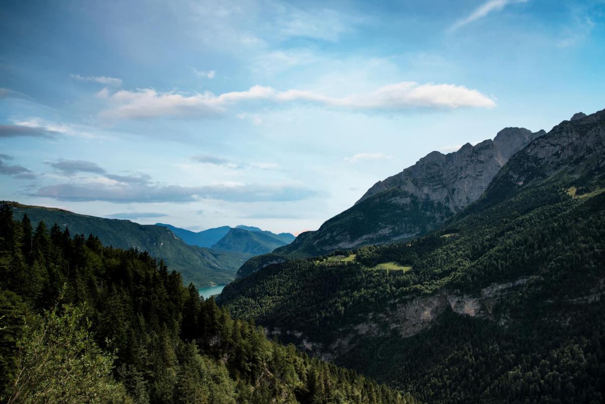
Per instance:
[[[57,399],[60,398],[60,401]],[[0,400],[413,403],[270,342],[146,252],[0,207]]]

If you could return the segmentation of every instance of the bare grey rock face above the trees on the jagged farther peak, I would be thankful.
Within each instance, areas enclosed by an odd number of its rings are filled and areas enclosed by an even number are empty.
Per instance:
[[[505,128],[494,140],[488,139],[458,151],[434,151],[399,174],[374,184],[357,202],[387,189],[397,188],[411,195],[442,203],[456,213],[476,201],[497,172],[515,152],[545,134],[524,128]]]

